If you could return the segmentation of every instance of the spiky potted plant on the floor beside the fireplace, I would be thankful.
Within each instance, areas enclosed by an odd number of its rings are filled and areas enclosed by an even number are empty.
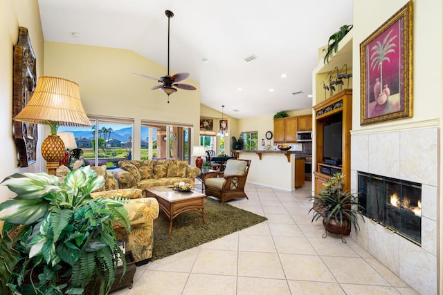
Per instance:
[[[356,232],[360,230],[359,216],[363,220],[363,216],[359,212],[361,205],[358,198],[350,193],[350,191],[343,191],[343,174],[335,173],[332,178],[329,178],[324,183],[324,189],[317,193],[316,196],[308,197],[312,201],[312,207],[309,209],[314,212],[311,222],[321,219],[325,227],[326,238],[327,231],[340,234],[341,240],[343,235],[350,234],[352,226]]]

